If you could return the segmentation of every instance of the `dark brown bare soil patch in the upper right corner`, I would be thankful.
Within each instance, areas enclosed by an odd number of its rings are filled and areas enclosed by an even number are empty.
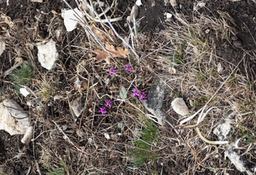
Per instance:
[[[178,0],[178,12],[182,12],[192,20],[195,1]],[[198,11],[210,17],[220,18],[219,12],[227,12],[234,22],[231,26],[236,28],[236,34],[228,39],[215,39],[216,54],[233,65],[238,65],[241,74],[255,83],[256,70],[256,4],[253,1],[205,1],[206,6]],[[216,36],[211,36],[216,38]],[[247,54],[244,55],[244,52]],[[219,60],[220,61],[220,60]],[[228,67],[230,63],[223,63]],[[234,68],[234,66],[233,66]]]

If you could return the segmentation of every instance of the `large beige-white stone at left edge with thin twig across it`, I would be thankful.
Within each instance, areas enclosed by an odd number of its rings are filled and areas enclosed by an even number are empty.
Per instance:
[[[25,134],[29,126],[29,116],[19,104],[11,99],[6,99],[0,104],[0,130],[13,136]]]

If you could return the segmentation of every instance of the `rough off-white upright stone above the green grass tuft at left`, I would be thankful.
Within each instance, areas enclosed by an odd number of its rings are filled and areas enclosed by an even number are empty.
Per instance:
[[[56,42],[50,39],[49,42],[40,43],[37,45],[38,61],[42,67],[51,70],[55,66],[55,61],[59,57],[59,53],[56,50]]]

